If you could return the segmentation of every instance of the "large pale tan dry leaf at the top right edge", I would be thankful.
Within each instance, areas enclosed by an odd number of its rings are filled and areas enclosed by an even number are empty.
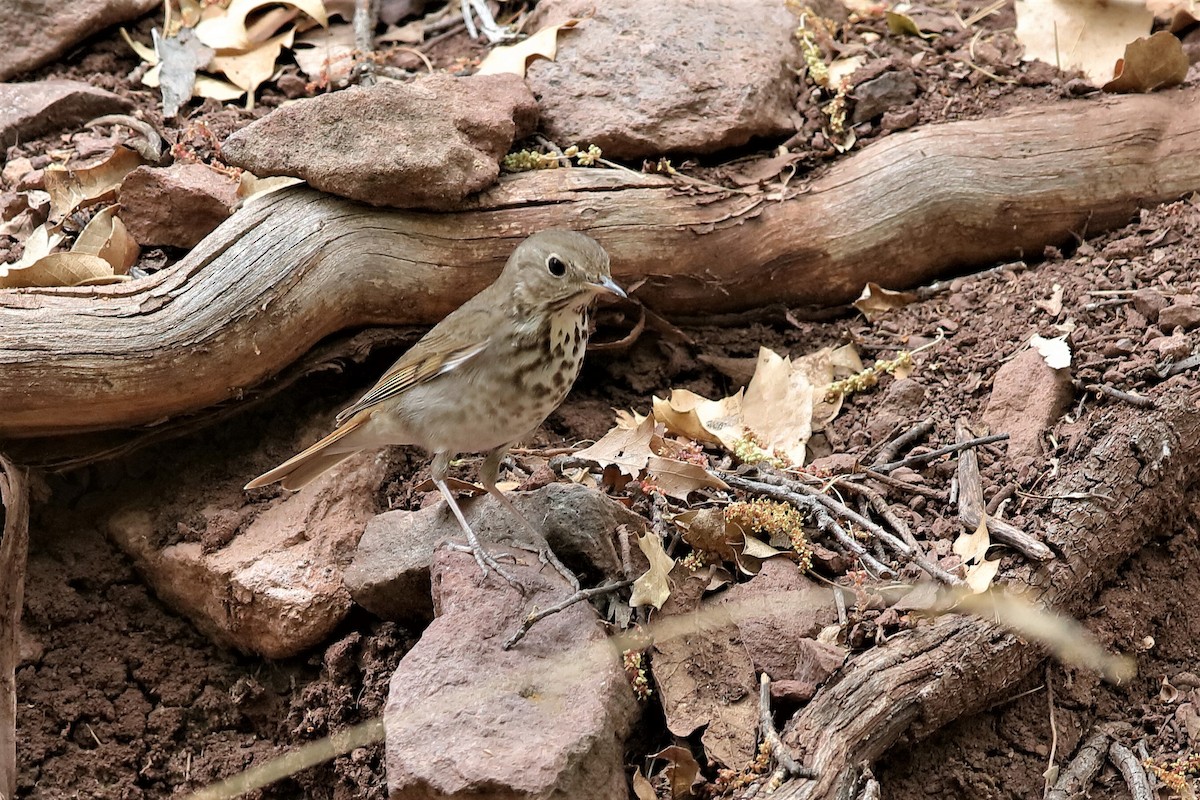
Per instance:
[[[1112,79],[1126,44],[1150,34],[1154,14],[1127,0],[1016,0],[1016,40],[1025,61],[1081,70],[1102,85]]]

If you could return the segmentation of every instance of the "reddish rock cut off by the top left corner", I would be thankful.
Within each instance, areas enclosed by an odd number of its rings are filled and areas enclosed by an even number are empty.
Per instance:
[[[2,2],[5,47],[0,49],[0,80],[49,64],[109,25],[137,19],[160,5],[156,0]]]

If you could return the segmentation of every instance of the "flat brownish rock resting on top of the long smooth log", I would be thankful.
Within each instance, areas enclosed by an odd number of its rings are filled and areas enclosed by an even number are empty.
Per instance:
[[[512,74],[379,83],[299,100],[229,137],[228,163],[371,205],[451,210],[496,182],[538,106]]]

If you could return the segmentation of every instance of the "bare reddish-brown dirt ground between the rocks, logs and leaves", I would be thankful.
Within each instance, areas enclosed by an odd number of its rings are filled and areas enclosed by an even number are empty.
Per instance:
[[[967,4],[960,13],[973,10]],[[143,22],[134,35],[149,40],[154,22]],[[925,43],[887,36],[880,22],[856,30],[881,35],[875,44],[881,61],[917,77],[918,122],[926,124],[1062,102],[1072,94],[1067,78],[1051,70],[1010,66],[1016,52],[1013,24],[1012,11],[1006,8],[979,26],[984,31],[980,41],[990,49],[976,48],[974,62],[1001,80],[968,65],[971,31]],[[446,66],[475,52],[478,48],[458,37],[440,44],[432,55],[439,66]],[[924,55],[914,60],[917,53]],[[107,34],[31,78],[85,79],[134,97],[148,118],[157,120],[155,98],[126,79],[137,66],[119,37]],[[199,157],[209,158],[212,139],[204,131],[223,138],[282,100],[266,88],[252,113],[209,101],[191,115],[180,138]],[[815,119],[805,103],[800,108]],[[810,125],[808,133],[815,131]],[[859,142],[880,134],[875,124],[859,133]],[[70,146],[70,137],[52,137],[23,144],[10,155],[38,157],[64,145]],[[832,157],[812,149],[805,155],[809,166]],[[1148,210],[1127,229],[1087,240],[1073,252],[1048,252],[1044,260],[1028,267],[1009,265],[982,277],[960,278],[946,293],[876,324],[851,314],[804,323],[764,312],[689,327],[694,345],[647,335],[628,353],[590,357],[576,390],[547,422],[538,444],[598,438],[610,426],[612,408],[646,410],[652,393],[671,386],[708,396],[734,389],[727,378],[697,360],[700,355],[752,357],[760,345],[800,354],[853,341],[865,356],[884,357],[931,339],[938,326],[948,332],[947,342],[919,359],[914,375],[924,386],[924,398],[902,403],[888,395],[890,379],[884,379],[876,390],[851,398],[828,433],[830,450],[863,453],[895,425],[925,416],[937,421],[928,444],[946,444],[953,438],[956,419],[978,419],[995,369],[1024,347],[1031,333],[1051,335],[1052,325],[1068,317],[1076,323],[1072,343],[1078,385],[1108,381],[1124,390],[1145,389],[1154,383],[1144,369],[1148,356],[1142,349],[1153,335],[1152,326],[1133,311],[1128,296],[1092,293],[1148,285],[1165,294],[1196,291],[1196,231],[1200,210],[1180,201]],[[19,243],[0,239],[4,249],[16,254]],[[151,253],[146,258],[161,257]],[[1048,300],[1055,284],[1063,287],[1064,311],[1051,318],[1034,301]],[[1116,347],[1122,339],[1129,345]],[[307,379],[293,396],[349,399],[395,355],[380,353],[366,366],[336,378]],[[1111,402],[1080,392],[1074,416],[1086,414],[1093,404]],[[270,409],[248,410],[218,432],[46,479],[32,521],[24,664],[18,672],[20,796],[180,795],[379,714],[390,673],[418,632],[356,613],[322,651],[308,657],[266,662],[229,652],[163,607],[128,560],[96,529],[100,512],[137,492],[150,473],[205,469],[240,481],[250,474],[241,469],[246,441],[257,441],[264,429],[325,419],[336,404],[283,399]],[[1057,433],[1062,434],[1056,438],[1058,446],[1064,447],[1074,432]],[[1070,444],[1088,446],[1078,439]],[[982,463],[989,497],[1018,479],[1002,449],[984,449]],[[380,505],[419,504],[421,498],[412,487],[425,476],[424,461],[406,455],[396,464],[396,480]],[[952,471],[953,462],[942,462],[924,475],[931,485],[944,487]],[[1036,491],[1042,477],[1025,476],[1022,487]],[[163,501],[169,503],[169,498]],[[953,513],[946,509],[918,503],[907,515],[923,539],[949,539],[956,533],[947,522]],[[1018,503],[1008,516],[1036,529],[1036,507]],[[1051,721],[1057,730],[1058,762],[1093,726],[1109,722],[1127,726],[1123,738],[1130,742],[1144,739],[1156,757],[1174,757],[1200,746],[1175,720],[1178,700],[1165,703],[1160,696],[1164,676],[1181,687],[1184,698],[1195,694],[1181,673],[1200,672],[1195,644],[1200,642],[1200,618],[1190,613],[1189,602],[1200,594],[1196,516],[1196,509],[1181,510],[1174,529],[1162,531],[1130,559],[1121,578],[1096,597],[1086,619],[1106,646],[1138,652],[1135,680],[1117,687],[1090,673],[1048,666],[1014,688],[1012,699],[926,741],[898,745],[877,770],[886,796],[1038,795],[1055,741]],[[1142,646],[1146,637],[1153,638],[1153,646]],[[668,744],[656,715],[647,717],[640,744],[629,754],[630,766],[644,769],[644,754]],[[383,798],[382,747],[356,750],[251,796]],[[1092,796],[1127,796],[1127,790],[1108,768]]]

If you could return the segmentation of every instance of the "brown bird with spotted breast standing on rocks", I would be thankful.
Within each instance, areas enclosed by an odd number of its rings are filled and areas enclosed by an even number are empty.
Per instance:
[[[578,377],[588,312],[604,294],[625,297],[608,253],[574,230],[542,230],[512,251],[496,281],[434,325],[358,402],[332,433],[246,485],[298,491],[360,450],[416,445],[432,456],[433,485],[467,536],[484,572],[518,584],[479,542],[446,486],[460,453],[486,453],[479,479],[526,528],[528,519],[496,487],[509,449],[559,407]],[[575,587],[565,567],[544,552]]]

